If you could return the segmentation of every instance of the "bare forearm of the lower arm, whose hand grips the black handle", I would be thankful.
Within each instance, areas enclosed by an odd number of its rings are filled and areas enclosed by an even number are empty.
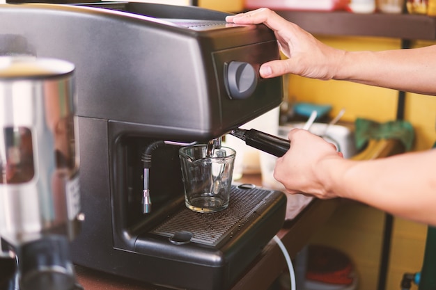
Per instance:
[[[410,220],[436,225],[436,150],[336,164],[328,191]],[[433,168],[432,168],[433,167]]]

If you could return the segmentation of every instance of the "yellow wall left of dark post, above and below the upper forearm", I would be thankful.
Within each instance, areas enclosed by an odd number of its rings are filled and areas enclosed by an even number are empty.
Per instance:
[[[322,42],[348,50],[391,49],[400,46],[399,40],[377,41],[372,38],[319,38]],[[332,115],[345,108],[342,120],[353,121],[357,117],[371,118],[380,122],[392,120],[396,115],[395,90],[376,88],[344,81],[320,81],[300,76],[290,76],[290,97],[304,102],[332,104]]]

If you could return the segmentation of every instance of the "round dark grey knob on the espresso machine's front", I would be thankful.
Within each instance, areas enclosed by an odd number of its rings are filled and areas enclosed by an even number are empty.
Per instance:
[[[231,61],[224,64],[224,83],[231,99],[247,99],[256,90],[258,77],[249,63]]]

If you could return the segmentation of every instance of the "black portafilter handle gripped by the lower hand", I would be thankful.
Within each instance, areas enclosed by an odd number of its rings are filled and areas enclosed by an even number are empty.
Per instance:
[[[230,134],[245,141],[245,144],[274,156],[283,156],[290,147],[289,140],[256,129],[234,129]]]

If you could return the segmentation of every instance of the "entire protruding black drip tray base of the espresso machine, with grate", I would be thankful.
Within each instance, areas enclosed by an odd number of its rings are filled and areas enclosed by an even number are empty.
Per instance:
[[[281,229],[286,202],[280,191],[234,184],[227,209],[203,214],[180,204],[137,237],[134,252],[147,257],[145,273],[159,284],[228,289]]]

